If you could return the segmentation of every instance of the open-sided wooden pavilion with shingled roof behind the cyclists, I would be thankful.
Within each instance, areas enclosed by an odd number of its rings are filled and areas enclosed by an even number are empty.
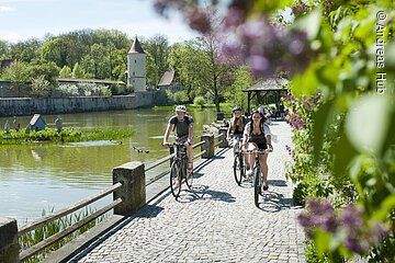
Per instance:
[[[268,78],[262,80],[255,85],[244,90],[242,92],[248,93],[248,113],[251,112],[251,100],[258,98],[262,104],[269,94],[275,95],[275,104],[280,104],[280,98],[286,92],[289,80],[284,78]]]

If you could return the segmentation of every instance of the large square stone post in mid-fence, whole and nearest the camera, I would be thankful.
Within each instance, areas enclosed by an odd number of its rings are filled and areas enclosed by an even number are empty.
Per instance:
[[[123,185],[113,194],[123,202],[115,206],[114,214],[129,216],[146,204],[145,171],[142,162],[127,162],[113,169],[113,184]]]

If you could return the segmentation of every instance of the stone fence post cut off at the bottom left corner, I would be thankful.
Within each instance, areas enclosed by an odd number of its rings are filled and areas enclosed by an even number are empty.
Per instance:
[[[16,220],[0,217],[0,262],[19,263]]]

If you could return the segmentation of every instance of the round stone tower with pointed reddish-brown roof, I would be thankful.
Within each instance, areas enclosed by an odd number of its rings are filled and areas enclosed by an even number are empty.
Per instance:
[[[134,91],[146,91],[146,58],[137,36],[127,53],[127,83]]]

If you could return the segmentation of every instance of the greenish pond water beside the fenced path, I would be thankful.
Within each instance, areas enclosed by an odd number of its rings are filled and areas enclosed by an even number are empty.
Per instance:
[[[129,110],[61,115],[65,127],[131,127],[135,136],[122,141],[72,144],[40,142],[25,146],[0,146],[0,216],[15,218],[23,225],[49,211],[65,208],[112,185],[112,169],[129,161],[149,163],[169,153],[161,147],[170,110]],[[203,125],[215,121],[213,110],[194,110],[195,141]],[[32,116],[20,116],[25,127]],[[45,115],[54,127],[57,115]],[[5,121],[0,118],[1,128]],[[147,179],[165,167],[153,169]],[[148,188],[149,191],[149,188]],[[112,196],[94,206],[109,203]]]

